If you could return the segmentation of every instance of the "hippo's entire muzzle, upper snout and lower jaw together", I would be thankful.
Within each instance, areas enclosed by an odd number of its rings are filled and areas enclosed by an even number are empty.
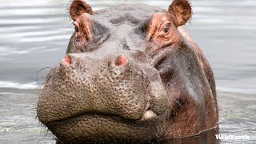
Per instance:
[[[63,142],[139,142],[162,134],[167,105],[153,67],[118,54],[69,54],[47,78],[38,119]]]

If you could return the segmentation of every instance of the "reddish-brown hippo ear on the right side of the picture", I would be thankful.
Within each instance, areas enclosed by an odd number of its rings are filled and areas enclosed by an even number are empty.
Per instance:
[[[192,16],[189,0],[174,0],[170,4],[168,12],[174,18],[177,27],[184,25]]]

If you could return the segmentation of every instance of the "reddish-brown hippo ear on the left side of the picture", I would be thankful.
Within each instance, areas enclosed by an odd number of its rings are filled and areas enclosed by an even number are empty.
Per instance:
[[[70,17],[75,21],[83,13],[93,14],[93,10],[83,0],[73,0],[70,5]]]

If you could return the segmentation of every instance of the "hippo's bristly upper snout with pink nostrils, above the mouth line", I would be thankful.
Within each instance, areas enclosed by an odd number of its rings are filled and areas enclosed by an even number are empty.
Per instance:
[[[45,124],[90,114],[153,121],[166,112],[161,83],[157,70],[129,54],[67,54],[48,75],[38,118]]]

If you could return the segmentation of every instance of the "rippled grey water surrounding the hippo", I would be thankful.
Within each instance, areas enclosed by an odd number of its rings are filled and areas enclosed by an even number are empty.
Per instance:
[[[167,9],[170,1],[92,1],[94,10],[143,2]],[[214,69],[220,134],[247,134],[256,143],[256,1],[191,0],[194,16],[185,29]],[[36,92],[49,69],[66,54],[74,30],[69,0],[1,0],[0,143],[54,143],[35,118]],[[38,74],[38,71],[40,73]],[[37,76],[38,74],[38,76]],[[38,78],[37,78],[38,77]],[[190,142],[193,140],[190,139]]]

